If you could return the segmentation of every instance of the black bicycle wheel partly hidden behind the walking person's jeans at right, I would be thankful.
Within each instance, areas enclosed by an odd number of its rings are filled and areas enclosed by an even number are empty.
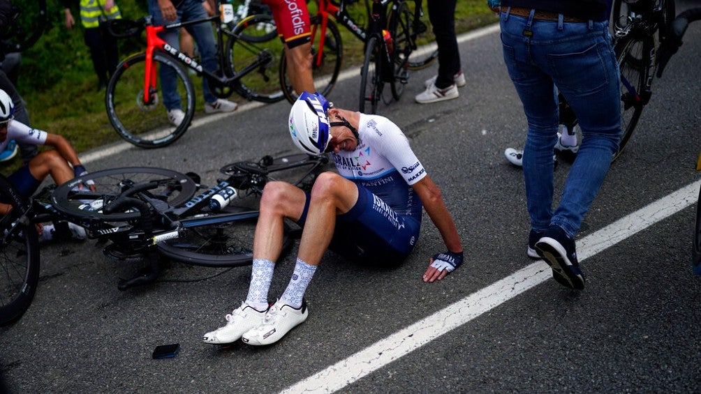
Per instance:
[[[644,40],[649,41],[648,43],[652,45],[653,38],[646,36]],[[646,67],[650,62],[645,59],[643,47],[643,41],[629,36],[618,41],[614,48],[620,67],[620,126],[622,134],[620,143],[618,143],[618,153],[613,155],[613,160],[616,160],[623,152],[623,148],[638,124],[645,105],[641,94],[644,89]],[[652,75],[653,71],[647,70],[647,73],[650,73],[648,75]]]

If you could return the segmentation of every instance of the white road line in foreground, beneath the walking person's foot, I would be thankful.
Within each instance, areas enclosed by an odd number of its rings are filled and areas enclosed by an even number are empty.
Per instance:
[[[579,261],[585,260],[633,234],[695,204],[701,181],[695,181],[659,199],[625,218],[584,237],[577,242]],[[691,233],[689,233],[691,239]],[[689,274],[690,274],[690,267]],[[683,272],[681,273],[683,274]],[[329,393],[341,390],[379,368],[428,344],[441,335],[468,323],[484,312],[498,307],[552,277],[542,260],[472,293],[435,314],[423,318],[366,349],[285,388],[283,393]],[[586,291],[586,290],[585,290]]]

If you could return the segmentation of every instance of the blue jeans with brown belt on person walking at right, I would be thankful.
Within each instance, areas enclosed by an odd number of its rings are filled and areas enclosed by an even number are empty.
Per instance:
[[[533,15],[533,13],[531,13]],[[620,140],[620,78],[608,22],[557,22],[503,10],[504,62],[528,119],[524,181],[531,228],[579,231]],[[557,90],[577,115],[583,141],[553,210],[552,153],[557,141]]]

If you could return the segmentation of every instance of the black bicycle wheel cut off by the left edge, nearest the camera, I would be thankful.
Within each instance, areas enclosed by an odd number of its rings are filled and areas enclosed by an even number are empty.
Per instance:
[[[0,326],[17,321],[34,299],[39,282],[39,241],[25,214],[29,204],[0,176],[0,202],[10,211],[0,216]]]

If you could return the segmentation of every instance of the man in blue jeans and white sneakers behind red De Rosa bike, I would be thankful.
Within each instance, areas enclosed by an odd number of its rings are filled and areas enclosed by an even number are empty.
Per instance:
[[[149,0],[149,12],[154,17],[154,24],[157,26],[198,20],[208,16],[202,0]],[[212,33],[212,25],[210,23],[196,23],[191,24],[186,29],[197,43],[203,68],[207,71],[215,71],[217,69],[217,44]],[[170,29],[161,32],[159,36],[173,48],[179,48],[178,31],[178,29]],[[168,119],[177,126],[185,118],[185,113],[180,108],[175,70],[170,67],[161,67],[159,73],[161,74],[163,104],[168,110]],[[205,113],[231,112],[237,108],[237,104],[232,101],[217,99],[207,84],[207,78],[202,78],[202,93],[205,97]]]

